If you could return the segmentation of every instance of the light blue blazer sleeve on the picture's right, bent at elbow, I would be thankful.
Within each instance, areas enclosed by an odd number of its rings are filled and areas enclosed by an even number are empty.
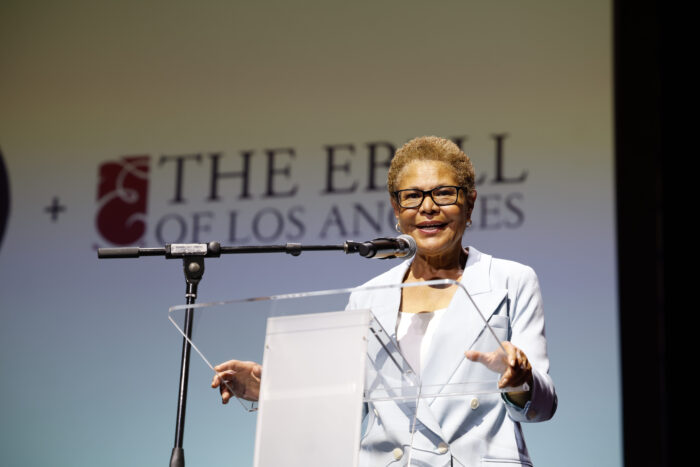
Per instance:
[[[516,422],[549,420],[557,410],[557,395],[549,376],[542,295],[532,268],[522,267],[511,299],[510,341],[527,355],[532,365],[533,384],[531,398],[525,407],[512,404],[504,395],[505,405],[510,418]]]

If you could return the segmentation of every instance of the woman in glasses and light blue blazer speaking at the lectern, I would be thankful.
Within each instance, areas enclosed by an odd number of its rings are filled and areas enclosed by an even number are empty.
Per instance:
[[[493,353],[469,350],[467,336],[471,334],[462,328],[468,303],[455,294],[456,285],[404,287],[395,297],[385,292],[353,294],[348,308],[389,305],[395,310],[382,324],[396,331],[402,353],[421,374],[423,384],[458,378],[460,372],[468,371],[466,360],[459,358],[466,356],[498,371],[501,388],[527,383],[529,390],[436,398],[421,404],[420,423],[411,443],[412,465],[531,466],[520,423],[548,420],[557,407],[534,271],[462,246],[476,200],[474,180],[471,161],[449,140],[421,137],[402,146],[392,159],[387,186],[396,229],[415,239],[417,252],[412,260],[365,285],[452,279],[473,297],[502,296],[502,300],[486,300],[494,305],[482,312],[489,324],[502,331],[506,354],[494,359]],[[217,366],[216,371],[212,387],[219,387],[224,403],[232,395],[257,399],[262,373],[258,364],[231,360]],[[222,381],[229,382],[234,394]],[[401,424],[395,420],[395,411],[383,413],[378,406],[367,411],[367,418],[362,464],[405,464],[405,446],[392,436],[392,425]]]

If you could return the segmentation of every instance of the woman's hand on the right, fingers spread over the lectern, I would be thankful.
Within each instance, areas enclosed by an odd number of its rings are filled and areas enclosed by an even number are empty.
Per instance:
[[[508,341],[503,341],[501,345],[506,351],[505,354],[499,348],[493,352],[468,350],[464,352],[464,355],[469,360],[486,365],[491,371],[499,373],[501,375],[501,379],[498,381],[499,388],[518,387],[527,383],[532,389],[532,365],[530,365],[525,352]],[[518,398],[518,395],[529,396],[529,391],[508,393],[511,399]]]

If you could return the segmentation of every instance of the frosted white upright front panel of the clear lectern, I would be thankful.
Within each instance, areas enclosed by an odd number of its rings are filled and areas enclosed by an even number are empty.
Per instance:
[[[255,467],[357,466],[370,320],[368,310],[268,319]]]

